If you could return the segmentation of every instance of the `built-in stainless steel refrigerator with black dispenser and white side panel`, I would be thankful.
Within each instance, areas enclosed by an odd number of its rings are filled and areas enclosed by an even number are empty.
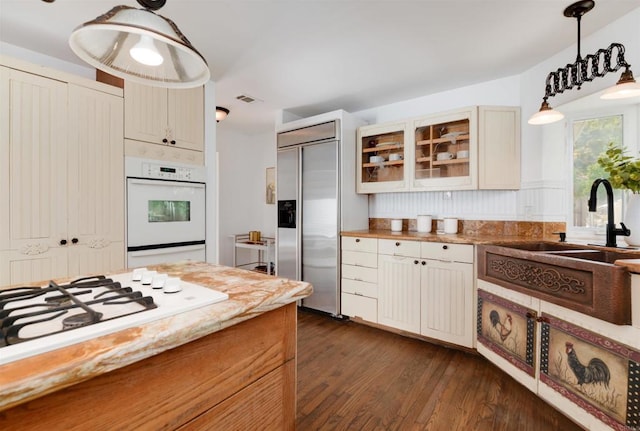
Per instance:
[[[341,316],[340,231],[369,224],[367,195],[355,192],[359,125],[335,111],[288,123],[277,139],[277,275],[311,283],[313,294],[301,305],[336,317]]]

